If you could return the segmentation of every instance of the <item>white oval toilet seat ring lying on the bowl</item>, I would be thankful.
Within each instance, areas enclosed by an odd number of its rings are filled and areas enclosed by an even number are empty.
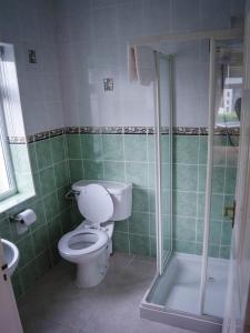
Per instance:
[[[86,228],[64,234],[58,243],[58,249],[64,255],[79,256],[100,250],[108,243],[108,240],[109,238],[106,232]],[[80,243],[82,245],[86,244],[86,246],[77,249]]]

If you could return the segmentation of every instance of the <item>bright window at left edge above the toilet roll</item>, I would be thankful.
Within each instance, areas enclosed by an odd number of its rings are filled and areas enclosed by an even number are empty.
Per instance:
[[[2,74],[3,65],[0,48],[0,201],[12,195],[17,191],[2,107],[4,99],[4,87],[1,80]]]

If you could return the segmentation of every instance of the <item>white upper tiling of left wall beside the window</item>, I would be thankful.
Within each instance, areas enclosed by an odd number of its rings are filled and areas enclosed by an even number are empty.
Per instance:
[[[63,127],[52,1],[0,0],[0,42],[14,46],[27,133]],[[28,49],[36,49],[37,64]]]

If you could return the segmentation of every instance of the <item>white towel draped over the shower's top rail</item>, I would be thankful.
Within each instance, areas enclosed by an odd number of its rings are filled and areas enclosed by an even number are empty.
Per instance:
[[[130,81],[150,85],[157,78],[153,50],[149,47],[130,47],[128,52]]]

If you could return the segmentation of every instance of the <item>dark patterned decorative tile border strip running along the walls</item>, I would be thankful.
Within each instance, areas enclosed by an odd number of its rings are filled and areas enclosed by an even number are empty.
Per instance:
[[[208,135],[208,128],[174,127],[173,134],[178,135]],[[39,132],[26,137],[9,137],[9,143],[31,143],[62,134],[154,134],[154,127],[66,127],[51,131]],[[169,128],[162,127],[161,134],[169,134]],[[216,128],[216,135],[239,135],[239,128]]]

